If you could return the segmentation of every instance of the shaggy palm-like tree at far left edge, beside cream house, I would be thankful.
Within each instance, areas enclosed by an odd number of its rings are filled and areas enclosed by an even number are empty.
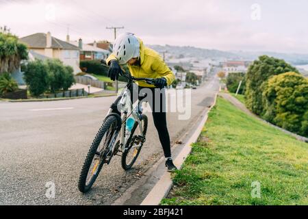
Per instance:
[[[18,69],[21,60],[27,60],[27,46],[18,42],[17,36],[6,31],[0,32],[0,74],[12,73]]]

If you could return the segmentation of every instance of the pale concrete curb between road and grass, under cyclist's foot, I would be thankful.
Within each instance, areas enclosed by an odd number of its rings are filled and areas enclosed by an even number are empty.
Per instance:
[[[208,112],[203,116],[201,122],[199,123],[196,131],[194,131],[194,134],[190,137],[188,142],[185,144],[177,158],[175,159],[175,166],[177,168],[181,169],[183,166],[183,163],[185,162],[185,159],[188,157],[190,152],[192,151],[191,144],[196,142],[198,140],[198,137],[200,136],[201,131],[203,130],[203,127],[207,121],[208,113],[211,111],[211,109],[216,105],[218,93],[215,96],[214,103],[209,108]],[[165,172],[164,175],[157,181],[151,192],[144,198],[144,201],[140,205],[159,205],[159,203],[162,201],[163,198],[165,198],[168,193],[170,192],[170,189],[172,188],[173,182],[171,179],[170,172]]]

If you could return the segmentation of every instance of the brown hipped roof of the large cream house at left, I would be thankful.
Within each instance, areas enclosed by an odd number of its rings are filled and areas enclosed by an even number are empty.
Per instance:
[[[47,46],[47,40],[46,40],[47,34],[44,33],[37,33],[37,34],[32,34],[29,36],[25,36],[23,38],[19,38],[19,40],[25,44],[30,49],[44,49]],[[68,49],[68,50],[79,50],[78,47],[76,47],[73,44],[70,44],[68,42],[59,40],[53,36],[51,36],[51,49]]]

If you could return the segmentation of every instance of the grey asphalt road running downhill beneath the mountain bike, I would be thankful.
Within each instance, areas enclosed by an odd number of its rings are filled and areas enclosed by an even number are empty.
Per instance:
[[[213,102],[218,86],[218,79],[212,78],[192,90],[190,119],[179,120],[181,113],[168,113],[172,142]],[[125,172],[119,157],[114,157],[88,194],[77,189],[86,153],[115,98],[0,101],[0,205],[110,205],[138,180],[162,156],[151,114],[146,144],[133,170]]]

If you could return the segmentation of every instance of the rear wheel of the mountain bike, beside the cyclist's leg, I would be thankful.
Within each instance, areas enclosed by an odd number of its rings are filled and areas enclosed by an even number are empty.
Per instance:
[[[146,136],[146,129],[148,128],[148,117],[146,115],[142,115],[141,125],[142,133],[138,122],[136,122],[133,129],[131,129],[131,136],[129,136],[127,140],[127,146],[125,147],[121,160],[124,170],[130,170],[140,154]]]

